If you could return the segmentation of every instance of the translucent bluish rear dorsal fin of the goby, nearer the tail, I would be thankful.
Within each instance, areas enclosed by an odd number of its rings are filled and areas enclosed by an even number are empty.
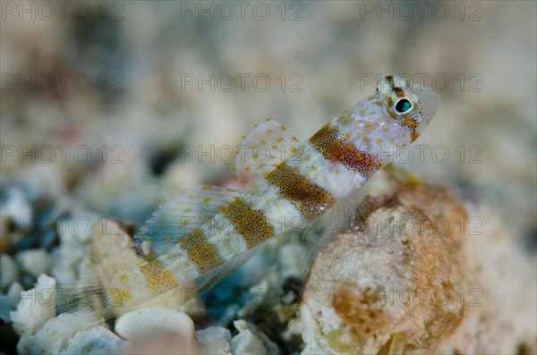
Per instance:
[[[175,246],[177,241],[200,230],[241,194],[217,186],[196,186],[173,194],[162,203],[134,236],[134,247],[154,258]]]

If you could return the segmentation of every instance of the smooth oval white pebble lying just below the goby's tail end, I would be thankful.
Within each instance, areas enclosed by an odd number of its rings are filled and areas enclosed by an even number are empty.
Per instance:
[[[175,332],[190,339],[194,336],[194,323],[179,310],[158,308],[133,310],[115,323],[115,334],[126,340],[162,332]]]

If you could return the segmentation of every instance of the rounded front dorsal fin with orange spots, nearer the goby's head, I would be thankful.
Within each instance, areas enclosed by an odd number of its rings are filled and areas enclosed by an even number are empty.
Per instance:
[[[299,146],[298,139],[286,126],[267,118],[243,137],[234,170],[241,182],[250,185],[296,153]]]

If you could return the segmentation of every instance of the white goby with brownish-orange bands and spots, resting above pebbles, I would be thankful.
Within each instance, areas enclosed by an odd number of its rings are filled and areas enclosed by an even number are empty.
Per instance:
[[[262,242],[352,196],[418,138],[439,101],[428,88],[388,76],[303,144],[266,120],[239,149],[235,170],[248,189],[200,186],[167,200],[135,237],[144,261],[88,289],[97,296],[90,309],[114,317],[178,287],[206,289]]]

